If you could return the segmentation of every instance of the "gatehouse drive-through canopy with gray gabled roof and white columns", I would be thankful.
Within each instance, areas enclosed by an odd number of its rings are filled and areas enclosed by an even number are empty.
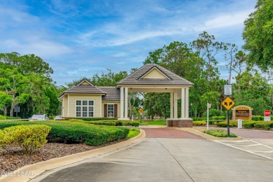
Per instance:
[[[120,119],[129,119],[128,92],[169,92],[170,118],[177,118],[178,99],[182,99],[181,118],[188,118],[188,94],[191,86],[193,83],[158,64],[145,64],[117,84],[120,88]]]

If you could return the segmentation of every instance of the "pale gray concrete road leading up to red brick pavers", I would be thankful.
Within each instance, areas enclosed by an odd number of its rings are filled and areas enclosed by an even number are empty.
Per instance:
[[[272,170],[272,160],[214,141],[146,138],[57,169],[41,181],[272,181]]]

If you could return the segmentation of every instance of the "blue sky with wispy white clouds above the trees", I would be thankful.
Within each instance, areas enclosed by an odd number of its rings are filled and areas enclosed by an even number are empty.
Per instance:
[[[57,85],[139,68],[148,52],[207,31],[239,48],[255,0],[0,0],[0,52],[35,54]],[[225,64],[218,60],[219,65]],[[221,78],[227,78],[225,71]]]

